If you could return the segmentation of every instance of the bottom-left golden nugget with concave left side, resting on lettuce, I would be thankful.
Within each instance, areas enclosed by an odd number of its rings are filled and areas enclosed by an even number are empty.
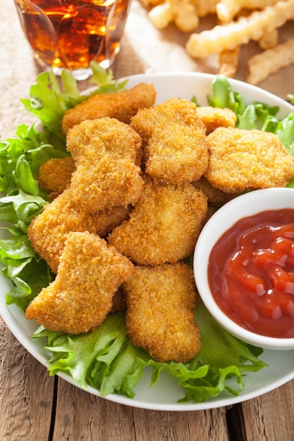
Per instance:
[[[97,328],[111,311],[112,297],[133,273],[133,264],[89,232],[70,232],[54,282],[27,307],[49,330],[81,334]]]

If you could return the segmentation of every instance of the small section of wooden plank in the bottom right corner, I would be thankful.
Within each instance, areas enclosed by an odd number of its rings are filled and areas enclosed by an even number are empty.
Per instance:
[[[293,409],[294,380],[243,403],[247,441],[293,440]]]

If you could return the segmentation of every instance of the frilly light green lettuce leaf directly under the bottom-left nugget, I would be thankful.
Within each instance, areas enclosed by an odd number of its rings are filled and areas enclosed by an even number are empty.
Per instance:
[[[84,389],[134,396],[142,368],[150,356],[130,343],[125,333],[125,316],[113,313],[97,330],[83,335],[65,335],[40,327],[33,338],[46,337],[45,349],[52,352],[50,375],[69,373]]]

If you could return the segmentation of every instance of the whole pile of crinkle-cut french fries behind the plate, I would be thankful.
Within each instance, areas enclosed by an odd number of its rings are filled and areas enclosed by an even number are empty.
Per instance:
[[[278,42],[278,28],[294,20],[294,0],[141,0],[155,27],[175,23],[191,32],[185,49],[192,58],[219,54],[219,73],[234,77],[240,46],[250,40],[262,51],[250,58],[247,82],[256,85],[271,73],[294,63],[294,38]],[[195,32],[200,19],[215,13],[215,27]],[[294,27],[294,22],[293,22]]]

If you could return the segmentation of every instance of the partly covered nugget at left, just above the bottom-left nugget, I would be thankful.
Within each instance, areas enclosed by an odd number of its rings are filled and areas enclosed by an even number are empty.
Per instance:
[[[27,228],[27,235],[36,253],[57,273],[69,232],[89,231],[104,236],[127,216],[128,210],[121,206],[114,207],[109,212],[85,213],[73,204],[69,187],[32,220]]]

